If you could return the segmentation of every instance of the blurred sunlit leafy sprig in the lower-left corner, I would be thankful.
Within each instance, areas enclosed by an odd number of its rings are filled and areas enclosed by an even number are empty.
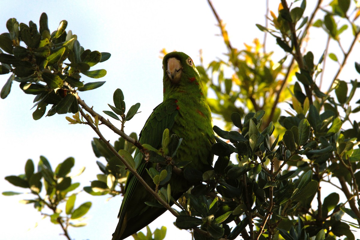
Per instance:
[[[73,182],[73,178],[81,175],[85,167],[81,168],[76,175],[70,175],[74,163],[74,158],[67,158],[53,170],[48,159],[40,156],[37,172],[35,172],[33,160],[28,159],[25,164],[25,173],[5,177],[5,180],[14,186],[28,189],[29,193],[35,196],[33,199],[24,199],[21,203],[33,204],[34,208],[42,215],[49,217],[51,223],[59,224],[64,236],[68,238],[69,226],[82,227],[86,225],[84,215],[91,207],[91,201],[87,201],[75,208],[79,192],[74,191],[80,186],[80,183]],[[3,195],[6,196],[18,194],[23,193],[3,192]]]

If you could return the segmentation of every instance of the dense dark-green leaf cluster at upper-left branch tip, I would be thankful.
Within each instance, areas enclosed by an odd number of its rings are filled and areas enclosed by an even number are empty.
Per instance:
[[[71,94],[75,89],[87,91],[102,86],[105,82],[80,81],[81,74],[91,78],[106,75],[105,69],[89,70],[94,65],[110,58],[109,53],[100,53],[84,49],[71,31],[66,32],[67,21],[60,22],[56,31],[50,34],[48,16],[42,13],[37,25],[18,23],[15,18],[6,22],[8,33],[0,35],[0,74],[11,72],[11,76],[1,89],[1,98],[6,98],[13,81],[20,82],[26,94],[36,95],[35,120],[46,112],[46,106],[52,105],[46,116],[56,113],[77,113],[76,97]],[[25,46],[22,46],[22,45]],[[64,63],[68,60],[69,63]]]

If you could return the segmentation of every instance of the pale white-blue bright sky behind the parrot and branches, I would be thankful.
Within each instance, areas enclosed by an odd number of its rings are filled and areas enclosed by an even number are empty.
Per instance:
[[[309,1],[311,2],[311,1]],[[270,9],[277,12],[279,1],[270,0]],[[255,1],[213,1],[220,17],[226,23],[230,41],[233,46],[243,48],[243,43],[251,43],[254,38],[261,41],[263,33],[255,26],[256,23],[265,25],[265,0]],[[308,10],[314,8],[308,3]],[[226,47],[219,36],[217,21],[205,0],[184,1],[14,1],[1,0],[0,3],[0,33],[7,32],[5,23],[9,18],[28,23],[32,20],[39,22],[42,12],[48,14],[49,28],[55,30],[63,19],[68,21],[67,31],[72,30],[85,49],[109,52],[111,58],[99,63],[91,69],[104,68],[107,75],[99,80],[106,83],[99,89],[81,92],[80,97],[95,111],[110,110],[112,95],[117,88],[122,89],[127,106],[141,103],[140,111],[125,125],[125,132],[139,133],[152,109],[162,102],[162,60],[160,51],[183,51],[192,57],[195,64],[199,63],[199,50],[203,51],[204,63],[216,58],[226,59]],[[324,35],[315,35],[313,49],[315,59],[319,59],[319,45],[325,45]],[[280,60],[283,50],[275,45],[275,40],[268,36],[267,49],[273,49],[274,61]],[[345,46],[347,46],[345,44]],[[322,48],[323,49],[323,48]],[[358,50],[359,48],[357,48]],[[356,50],[354,50],[356,51]],[[276,58],[279,56],[278,58]],[[359,59],[353,58],[354,62]],[[350,60],[349,60],[350,61]],[[354,76],[354,65],[344,72]],[[335,68],[334,68],[335,69]],[[335,70],[334,70],[335,71]],[[331,71],[329,73],[331,76]],[[341,75],[344,79],[346,75]],[[356,75],[355,75],[356,76]],[[0,76],[0,85],[4,85],[9,75]],[[85,81],[93,81],[85,76]],[[324,85],[330,78],[325,78]],[[324,87],[325,89],[328,86]],[[10,95],[0,99],[0,191],[23,191],[26,189],[14,187],[4,180],[8,175],[19,175],[24,172],[27,159],[39,162],[39,156],[44,155],[50,161],[53,169],[67,157],[75,158],[76,172],[86,167],[85,172],[73,179],[80,182],[82,189],[89,186],[100,173],[96,160],[103,163],[105,159],[97,159],[91,148],[91,140],[95,133],[85,125],[69,125],[65,119],[68,115],[42,117],[32,119],[33,95],[26,95],[14,82]],[[111,120],[112,121],[112,120]],[[116,120],[112,121],[120,127]],[[102,127],[100,130],[111,142],[116,136]],[[325,195],[326,196],[326,195]],[[1,225],[3,239],[65,239],[60,236],[58,225],[49,223],[49,219],[42,220],[39,212],[28,205],[18,203],[22,199],[31,199],[31,194],[6,197],[0,195],[0,216],[5,221]],[[111,239],[118,219],[117,214],[121,198],[107,200],[106,196],[93,197],[80,193],[75,207],[85,201],[92,201],[93,205],[86,214],[86,227],[69,228],[72,239]],[[167,238],[176,236],[177,239],[190,235],[177,229],[173,222],[175,217],[163,214],[154,221],[152,231],[162,224],[168,228]],[[35,227],[35,223],[38,226]],[[132,237],[129,237],[132,239]]]

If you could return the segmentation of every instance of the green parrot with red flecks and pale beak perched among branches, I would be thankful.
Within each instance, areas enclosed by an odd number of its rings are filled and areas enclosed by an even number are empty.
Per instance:
[[[204,95],[202,82],[193,60],[181,52],[172,52],[163,58],[163,102],[152,112],[139,135],[141,144],[160,149],[163,131],[183,138],[174,162],[191,161],[184,168],[199,171],[211,169],[213,155],[211,145],[215,142],[211,124],[210,108]],[[136,154],[139,149],[136,150]],[[151,157],[150,157],[151,158]],[[155,189],[153,180],[145,168],[156,163],[141,161],[136,171]],[[184,170],[184,169],[183,169]],[[184,176],[172,174],[171,196],[178,199],[192,186]],[[145,201],[157,203],[156,199],[129,173],[124,198],[118,215],[119,222],[113,240],[121,240],[141,230],[166,211],[166,208],[150,207]]]

